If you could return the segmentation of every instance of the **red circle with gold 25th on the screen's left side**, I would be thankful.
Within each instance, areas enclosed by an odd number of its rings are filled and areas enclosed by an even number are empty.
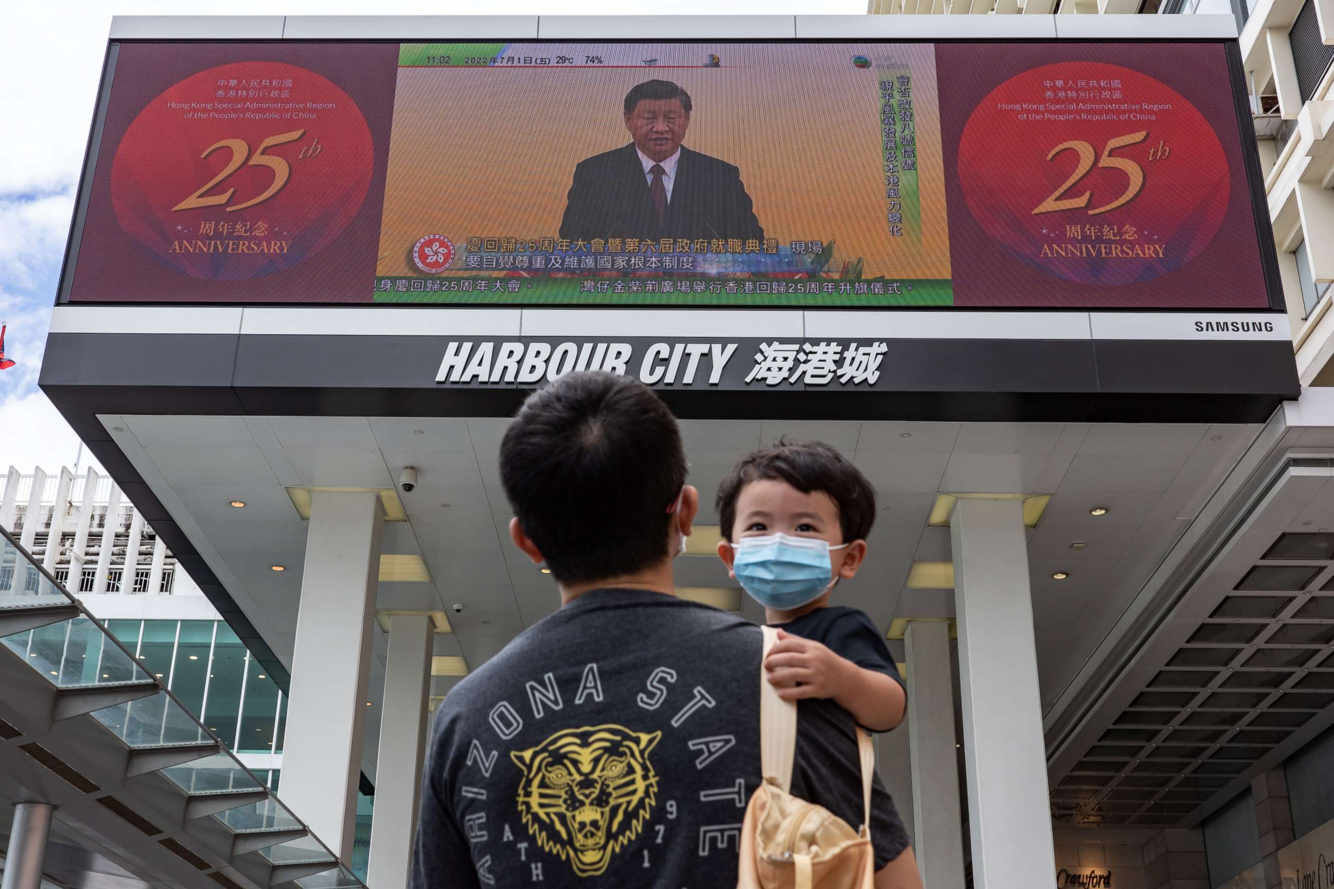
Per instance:
[[[291,268],[356,216],[375,149],[360,109],[328,79],[276,61],[187,77],[139,112],[112,163],[125,232],[191,277]]]

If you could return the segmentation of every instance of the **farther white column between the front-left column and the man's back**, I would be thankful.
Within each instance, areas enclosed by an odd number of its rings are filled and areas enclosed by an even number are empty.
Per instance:
[[[391,620],[366,884],[376,889],[407,889],[426,752],[435,624],[430,614],[395,614]]]

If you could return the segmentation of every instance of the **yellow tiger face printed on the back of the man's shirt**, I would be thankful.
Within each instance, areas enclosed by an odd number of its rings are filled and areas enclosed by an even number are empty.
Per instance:
[[[662,732],[594,725],[511,750],[523,769],[519,816],[538,845],[567,858],[580,877],[607,870],[611,856],[639,836],[654,808],[658,776],[648,752],[659,738]]]

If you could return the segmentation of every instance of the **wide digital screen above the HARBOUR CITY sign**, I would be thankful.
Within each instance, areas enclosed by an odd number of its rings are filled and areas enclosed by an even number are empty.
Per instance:
[[[71,301],[1269,307],[1222,43],[119,44]]]

